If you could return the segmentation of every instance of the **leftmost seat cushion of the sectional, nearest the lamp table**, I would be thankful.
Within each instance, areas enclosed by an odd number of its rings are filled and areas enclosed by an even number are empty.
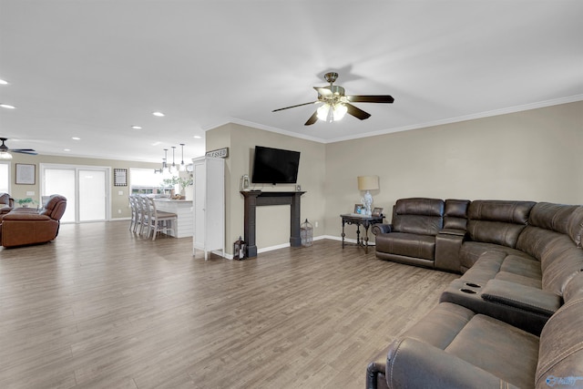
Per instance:
[[[376,251],[433,261],[435,237],[404,232],[381,234],[376,237]]]

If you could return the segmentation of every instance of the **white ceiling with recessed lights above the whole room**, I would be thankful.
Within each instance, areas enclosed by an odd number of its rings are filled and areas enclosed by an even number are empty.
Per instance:
[[[579,0],[0,0],[0,103],[16,107],[0,137],[160,162],[229,122],[328,143],[583,100],[582,16]],[[271,112],[315,100],[331,70],[394,104],[309,127],[316,106]]]

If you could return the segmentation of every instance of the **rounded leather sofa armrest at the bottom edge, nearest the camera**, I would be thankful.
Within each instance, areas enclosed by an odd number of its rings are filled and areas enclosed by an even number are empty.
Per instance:
[[[395,387],[516,388],[429,343],[404,338],[387,354],[386,381]]]

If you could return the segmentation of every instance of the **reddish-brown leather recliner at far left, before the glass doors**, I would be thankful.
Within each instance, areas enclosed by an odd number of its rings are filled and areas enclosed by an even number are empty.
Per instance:
[[[17,208],[5,214],[0,225],[4,247],[53,241],[66,210],[66,198],[52,195],[40,210]]]

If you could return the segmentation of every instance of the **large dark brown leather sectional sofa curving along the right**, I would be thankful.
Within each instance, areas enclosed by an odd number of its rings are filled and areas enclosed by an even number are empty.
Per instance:
[[[378,258],[463,273],[367,387],[583,387],[583,206],[403,199]]]

